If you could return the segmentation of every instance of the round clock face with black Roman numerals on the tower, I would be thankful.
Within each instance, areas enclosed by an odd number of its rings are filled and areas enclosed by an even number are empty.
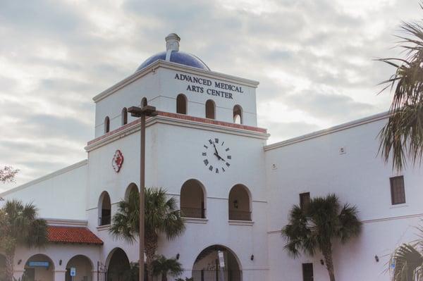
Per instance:
[[[217,138],[209,139],[204,144],[202,157],[204,165],[212,173],[225,173],[231,167],[231,149]]]

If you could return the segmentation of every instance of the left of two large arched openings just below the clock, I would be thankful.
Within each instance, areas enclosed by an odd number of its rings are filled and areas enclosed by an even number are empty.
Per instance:
[[[185,218],[206,218],[204,186],[198,180],[187,180],[180,189],[180,212]]]

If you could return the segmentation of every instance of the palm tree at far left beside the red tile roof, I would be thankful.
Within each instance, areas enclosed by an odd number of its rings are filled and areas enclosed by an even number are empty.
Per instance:
[[[37,218],[33,204],[13,199],[0,211],[0,248],[6,256],[6,281],[13,281],[13,259],[18,245],[44,246],[47,243],[47,223]]]

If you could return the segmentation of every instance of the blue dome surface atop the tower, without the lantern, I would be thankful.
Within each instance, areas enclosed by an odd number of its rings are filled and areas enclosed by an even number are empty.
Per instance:
[[[146,68],[148,65],[158,60],[166,61],[166,51],[163,51],[159,54],[155,54],[154,56],[150,56],[149,58],[147,58],[144,63],[142,63],[139,68],[137,68],[137,71]],[[172,63],[188,65],[192,68],[210,70],[210,68],[202,60],[200,60],[200,58],[197,58],[197,56],[194,56],[192,54],[184,53],[183,51],[171,51],[171,56],[168,61],[171,61]]]

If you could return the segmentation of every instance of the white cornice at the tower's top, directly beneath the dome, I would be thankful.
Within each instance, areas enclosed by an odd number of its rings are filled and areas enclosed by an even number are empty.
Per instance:
[[[102,99],[104,99],[106,96],[113,94],[114,92],[140,79],[141,77],[144,77],[145,75],[149,73],[155,73],[158,68],[166,68],[166,69],[171,69],[176,71],[183,71],[185,73],[190,73],[193,75],[202,75],[204,77],[209,77],[209,78],[217,79],[217,80],[223,80],[226,82],[232,82],[232,83],[236,83],[240,85],[245,85],[248,87],[257,88],[257,86],[259,85],[259,82],[255,80],[249,80],[249,79],[227,75],[223,73],[216,73],[214,71],[202,70],[200,68],[192,68],[190,66],[181,65],[178,63],[171,63],[168,61],[158,60],[152,63],[151,65],[148,65],[146,68],[133,73],[133,75],[126,77],[120,82],[117,82],[115,85],[109,87],[108,89],[105,89],[100,94],[97,94],[97,96],[94,96],[92,100],[97,103],[98,101],[101,101]]]

